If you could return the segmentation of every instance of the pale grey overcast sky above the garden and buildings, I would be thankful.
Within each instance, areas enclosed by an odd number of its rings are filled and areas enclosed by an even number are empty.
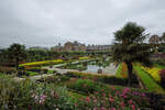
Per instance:
[[[0,46],[110,44],[128,21],[165,32],[165,0],[0,0]]]

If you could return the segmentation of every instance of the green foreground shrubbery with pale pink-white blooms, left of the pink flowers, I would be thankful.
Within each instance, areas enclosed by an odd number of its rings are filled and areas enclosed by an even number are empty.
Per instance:
[[[0,110],[73,110],[73,98],[65,87],[35,84],[29,79],[16,82],[0,78]]]

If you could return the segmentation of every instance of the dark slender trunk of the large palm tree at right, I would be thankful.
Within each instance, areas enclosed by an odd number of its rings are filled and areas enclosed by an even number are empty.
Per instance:
[[[129,76],[129,82],[128,82],[128,86],[131,86],[132,85],[132,63],[128,62],[127,63],[127,66],[128,66],[128,76]]]

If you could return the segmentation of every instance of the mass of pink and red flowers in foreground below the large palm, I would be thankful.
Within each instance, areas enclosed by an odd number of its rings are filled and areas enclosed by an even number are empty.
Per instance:
[[[106,90],[96,91],[94,95],[78,100],[76,110],[140,110],[148,106],[145,94],[132,91],[130,88],[117,90],[112,87],[111,92]]]

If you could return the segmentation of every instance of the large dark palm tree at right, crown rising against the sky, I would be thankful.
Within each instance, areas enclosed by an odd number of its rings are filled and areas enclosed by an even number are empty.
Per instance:
[[[142,63],[146,66],[150,62],[150,46],[144,43],[148,34],[145,29],[133,22],[128,22],[121,30],[114,33],[114,44],[112,45],[112,61],[124,62],[128,67],[129,82],[132,84],[133,63]]]

